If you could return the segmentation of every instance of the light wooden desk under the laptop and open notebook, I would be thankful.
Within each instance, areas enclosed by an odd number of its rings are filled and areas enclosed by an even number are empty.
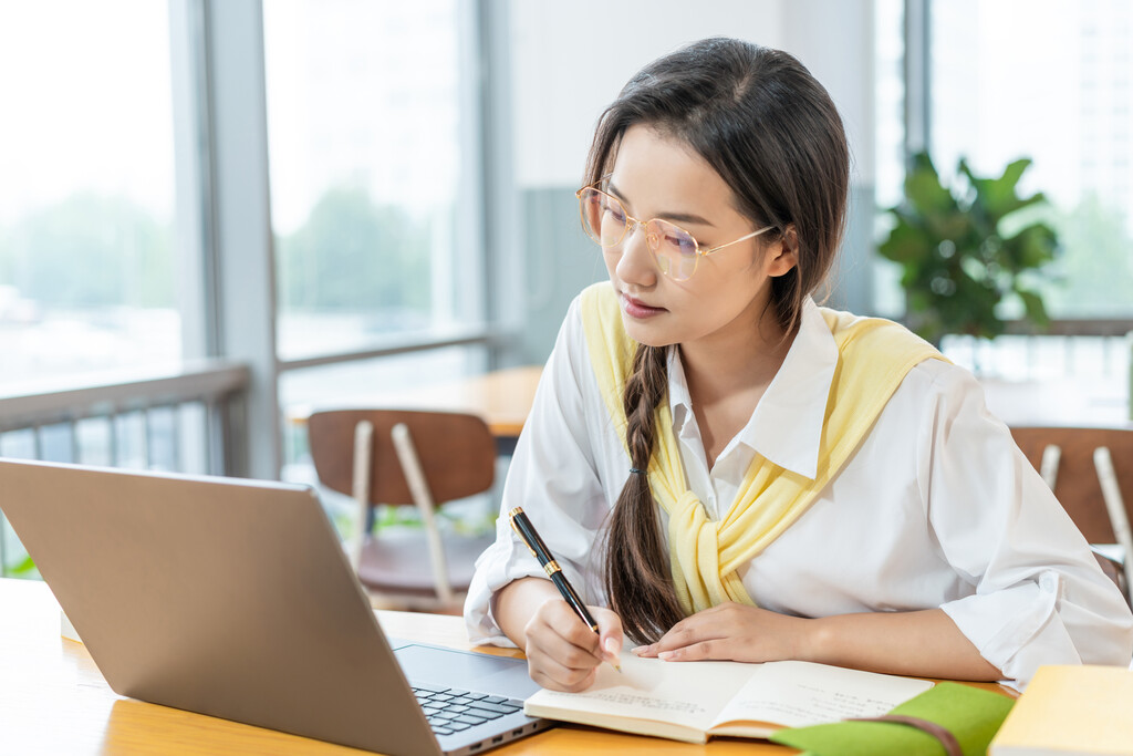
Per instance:
[[[459,617],[377,612],[386,632],[470,648]],[[518,652],[496,653],[518,655]],[[59,604],[46,584],[0,579],[0,753],[84,754],[366,754],[116,695],[86,648],[59,635]],[[791,754],[751,740],[692,746],[561,727],[489,751],[500,756],[640,754]]]

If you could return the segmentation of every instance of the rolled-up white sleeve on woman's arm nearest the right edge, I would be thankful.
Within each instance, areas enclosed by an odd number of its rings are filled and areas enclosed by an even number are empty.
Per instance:
[[[1133,615],[1065,510],[963,371],[942,374],[919,483],[944,558],[974,593],[945,603],[1005,682],[1041,664],[1128,665]]]

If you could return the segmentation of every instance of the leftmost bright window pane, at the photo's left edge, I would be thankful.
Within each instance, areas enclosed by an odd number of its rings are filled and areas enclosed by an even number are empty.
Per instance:
[[[0,385],[180,356],[167,3],[0,5]]]

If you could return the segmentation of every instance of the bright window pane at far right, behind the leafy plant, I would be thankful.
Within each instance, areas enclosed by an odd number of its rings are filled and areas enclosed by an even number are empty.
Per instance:
[[[932,154],[998,176],[1034,162],[1064,246],[1045,286],[1054,317],[1133,316],[1133,7],[1099,0],[932,3]]]

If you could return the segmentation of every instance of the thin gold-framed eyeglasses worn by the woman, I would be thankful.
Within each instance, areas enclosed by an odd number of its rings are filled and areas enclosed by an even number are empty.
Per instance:
[[[632,232],[641,227],[645,229],[645,238],[657,260],[657,267],[661,272],[674,281],[687,281],[697,272],[697,263],[701,257],[718,252],[733,244],[747,241],[759,236],[764,231],[775,228],[768,226],[758,231],[752,231],[742,236],[735,241],[722,244],[712,249],[701,249],[692,235],[680,226],[654,218],[649,221],[641,221],[625,212],[622,203],[612,195],[594,186],[585,186],[574,193],[578,197],[579,213],[582,216],[582,228],[587,235],[597,241],[603,248],[616,247]]]

